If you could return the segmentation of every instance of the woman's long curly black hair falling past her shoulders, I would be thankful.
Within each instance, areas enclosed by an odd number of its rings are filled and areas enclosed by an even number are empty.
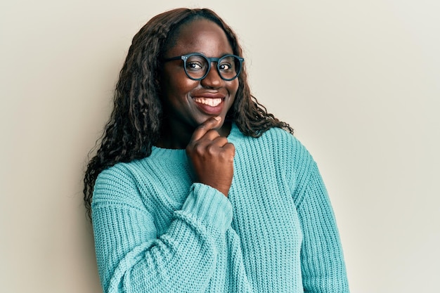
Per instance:
[[[242,56],[242,48],[231,27],[219,15],[207,8],[177,8],[156,15],[134,36],[116,84],[114,108],[105,125],[96,155],[87,164],[84,176],[84,204],[91,219],[93,187],[98,174],[118,162],[130,162],[148,157],[160,138],[162,103],[157,77],[161,60],[168,48],[174,46],[181,25],[205,18],[221,27],[233,53]],[[268,113],[251,95],[245,67],[238,77],[238,91],[228,112],[238,129],[246,136],[259,137],[264,131],[279,127],[293,133],[289,124]]]

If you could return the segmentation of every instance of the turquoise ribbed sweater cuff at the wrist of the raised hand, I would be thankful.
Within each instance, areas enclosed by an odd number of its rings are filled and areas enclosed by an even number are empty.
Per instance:
[[[219,190],[202,183],[193,183],[183,203],[182,211],[193,214],[226,233],[232,222],[232,205]]]

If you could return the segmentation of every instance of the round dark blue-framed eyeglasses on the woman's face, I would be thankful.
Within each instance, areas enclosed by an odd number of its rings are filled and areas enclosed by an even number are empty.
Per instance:
[[[204,79],[208,75],[209,70],[211,70],[211,63],[216,62],[217,72],[219,72],[221,79],[231,81],[240,74],[242,63],[245,59],[232,54],[227,54],[220,58],[209,58],[201,53],[190,53],[188,55],[166,58],[163,61],[168,62],[172,60],[183,60],[183,69],[186,76],[193,80]]]

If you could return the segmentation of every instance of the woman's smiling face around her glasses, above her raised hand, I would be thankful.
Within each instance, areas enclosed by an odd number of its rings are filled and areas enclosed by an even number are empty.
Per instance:
[[[189,53],[202,53],[209,58],[233,54],[225,32],[210,20],[193,20],[183,25],[178,33],[176,45],[165,52],[164,58]],[[217,128],[221,130],[238,90],[238,78],[221,79],[216,63],[212,63],[204,79],[193,80],[187,77],[183,60],[164,63],[162,72],[164,119],[171,131],[192,133],[195,127],[214,116],[221,117],[221,125]]]

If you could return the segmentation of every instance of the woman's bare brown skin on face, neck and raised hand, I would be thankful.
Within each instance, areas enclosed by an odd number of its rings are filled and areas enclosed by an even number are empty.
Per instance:
[[[165,53],[165,58],[188,53],[202,53],[221,57],[233,53],[225,32],[209,20],[193,20],[183,25],[176,45]],[[231,123],[225,122],[226,113],[233,105],[238,90],[238,79],[225,81],[215,70],[205,79],[189,79],[181,60],[164,64],[161,76],[164,123],[157,143],[162,148],[185,148],[197,182],[216,188],[226,197],[233,178],[235,147],[226,136]],[[221,98],[215,108],[200,105],[200,98]]]

